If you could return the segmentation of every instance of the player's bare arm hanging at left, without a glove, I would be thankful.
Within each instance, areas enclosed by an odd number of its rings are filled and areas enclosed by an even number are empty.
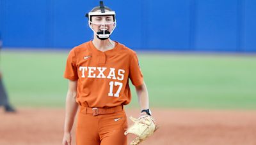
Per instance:
[[[78,104],[76,102],[77,95],[77,81],[69,80],[68,92],[66,98],[66,114],[64,125],[63,145],[71,145],[71,130],[74,124]]]

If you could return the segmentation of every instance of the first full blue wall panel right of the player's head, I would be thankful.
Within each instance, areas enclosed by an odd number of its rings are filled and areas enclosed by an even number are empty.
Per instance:
[[[189,49],[189,0],[157,3],[148,1],[145,18],[145,48],[150,50]]]

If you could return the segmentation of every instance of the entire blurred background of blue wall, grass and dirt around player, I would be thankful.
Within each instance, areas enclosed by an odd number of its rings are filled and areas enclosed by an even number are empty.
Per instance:
[[[138,53],[161,126],[145,144],[256,144],[255,0],[104,4],[116,11],[111,39]],[[84,15],[98,5],[0,0],[0,70],[18,111],[0,111],[0,144],[61,143],[67,55],[93,38]],[[138,116],[131,88],[127,116]]]

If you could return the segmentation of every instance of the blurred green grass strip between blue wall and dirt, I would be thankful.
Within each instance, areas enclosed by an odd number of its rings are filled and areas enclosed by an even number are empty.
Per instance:
[[[12,104],[63,107],[68,52],[1,52],[1,69]],[[256,57],[139,53],[150,106],[256,109]],[[134,89],[132,87],[132,93]],[[138,107],[136,95],[131,106]]]

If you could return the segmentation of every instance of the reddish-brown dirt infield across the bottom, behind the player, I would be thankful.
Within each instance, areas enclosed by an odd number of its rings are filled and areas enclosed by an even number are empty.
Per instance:
[[[18,110],[0,112],[1,145],[61,144],[64,109]],[[137,112],[127,110],[127,116],[137,117]],[[160,128],[141,145],[256,144],[256,111],[154,109],[154,117]]]

